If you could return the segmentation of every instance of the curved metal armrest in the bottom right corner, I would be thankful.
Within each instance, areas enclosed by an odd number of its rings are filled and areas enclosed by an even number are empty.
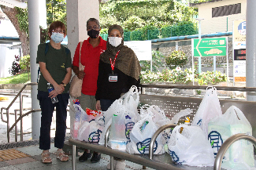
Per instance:
[[[224,143],[221,145],[220,150],[217,152],[217,156],[214,161],[213,170],[221,170],[221,162],[224,157],[224,154],[228,150],[228,147],[231,146],[232,143],[235,143],[239,139],[247,139],[254,144],[254,147],[256,147],[256,139],[253,136],[248,136],[247,134],[244,134],[244,133],[239,133],[239,134],[230,136],[228,139],[224,141]]]

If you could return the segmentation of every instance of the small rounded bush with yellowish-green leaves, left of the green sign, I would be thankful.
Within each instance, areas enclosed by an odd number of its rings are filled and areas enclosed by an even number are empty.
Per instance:
[[[176,68],[178,66],[182,67],[187,63],[187,56],[185,52],[175,50],[169,56],[165,57],[165,63],[171,69]]]

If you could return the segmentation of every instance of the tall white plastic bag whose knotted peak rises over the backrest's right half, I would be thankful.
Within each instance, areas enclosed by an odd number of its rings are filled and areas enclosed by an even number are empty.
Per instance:
[[[209,121],[221,114],[221,104],[217,97],[217,89],[208,87],[206,89],[206,95],[203,97],[191,125],[200,126],[207,136]]]

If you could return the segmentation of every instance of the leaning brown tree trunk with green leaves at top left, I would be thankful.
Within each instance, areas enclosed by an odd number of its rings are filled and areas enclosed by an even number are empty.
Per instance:
[[[28,12],[26,12],[25,9],[20,9],[17,7],[12,9],[5,5],[1,5],[1,9],[12,22],[20,37],[23,56],[29,55]],[[20,19],[24,22],[20,22]]]

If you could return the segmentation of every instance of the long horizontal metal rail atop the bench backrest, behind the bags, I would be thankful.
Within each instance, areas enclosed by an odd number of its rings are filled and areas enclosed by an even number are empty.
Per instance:
[[[151,85],[151,84],[139,84],[139,87],[142,87],[142,88],[160,88],[160,89],[206,89],[209,86],[213,86],[217,90],[256,92],[256,88],[252,88],[252,87],[232,87],[232,86],[218,86],[218,85]]]

